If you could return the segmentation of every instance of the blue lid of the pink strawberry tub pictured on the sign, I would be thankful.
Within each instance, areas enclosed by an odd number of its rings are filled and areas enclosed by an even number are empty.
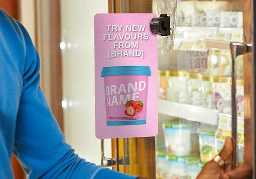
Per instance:
[[[101,77],[117,75],[148,75],[151,76],[149,66],[114,66],[103,67]]]

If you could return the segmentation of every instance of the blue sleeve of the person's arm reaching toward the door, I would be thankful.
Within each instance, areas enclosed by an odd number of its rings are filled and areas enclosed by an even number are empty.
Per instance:
[[[23,89],[13,152],[30,179],[135,179],[86,162],[64,141],[59,125],[39,87],[39,57],[24,27]],[[58,90],[58,89],[56,89]],[[79,137],[79,136],[77,136]],[[90,145],[90,144],[88,144]]]

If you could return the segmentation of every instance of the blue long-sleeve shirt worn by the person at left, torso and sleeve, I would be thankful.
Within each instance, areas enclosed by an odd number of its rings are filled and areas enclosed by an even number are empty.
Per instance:
[[[90,144],[88,144],[90,145]],[[39,57],[28,32],[0,9],[0,178],[11,153],[30,179],[134,179],[74,154],[39,87]]]

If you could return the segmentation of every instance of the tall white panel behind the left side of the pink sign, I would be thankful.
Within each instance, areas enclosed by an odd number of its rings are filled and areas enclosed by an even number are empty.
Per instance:
[[[93,17],[108,12],[107,0],[61,0],[64,132],[87,161],[100,164],[95,137]],[[105,142],[111,156],[111,142]]]

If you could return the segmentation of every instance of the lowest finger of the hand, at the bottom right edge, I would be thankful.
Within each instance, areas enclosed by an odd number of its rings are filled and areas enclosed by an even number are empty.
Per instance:
[[[248,165],[242,165],[239,168],[226,172],[223,179],[244,179],[252,175],[252,170]]]

